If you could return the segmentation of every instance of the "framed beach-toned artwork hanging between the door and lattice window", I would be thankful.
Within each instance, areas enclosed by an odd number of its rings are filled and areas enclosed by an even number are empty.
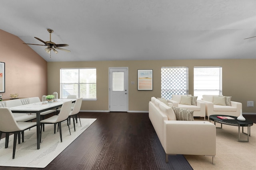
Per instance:
[[[138,70],[138,90],[153,90],[153,70]]]

